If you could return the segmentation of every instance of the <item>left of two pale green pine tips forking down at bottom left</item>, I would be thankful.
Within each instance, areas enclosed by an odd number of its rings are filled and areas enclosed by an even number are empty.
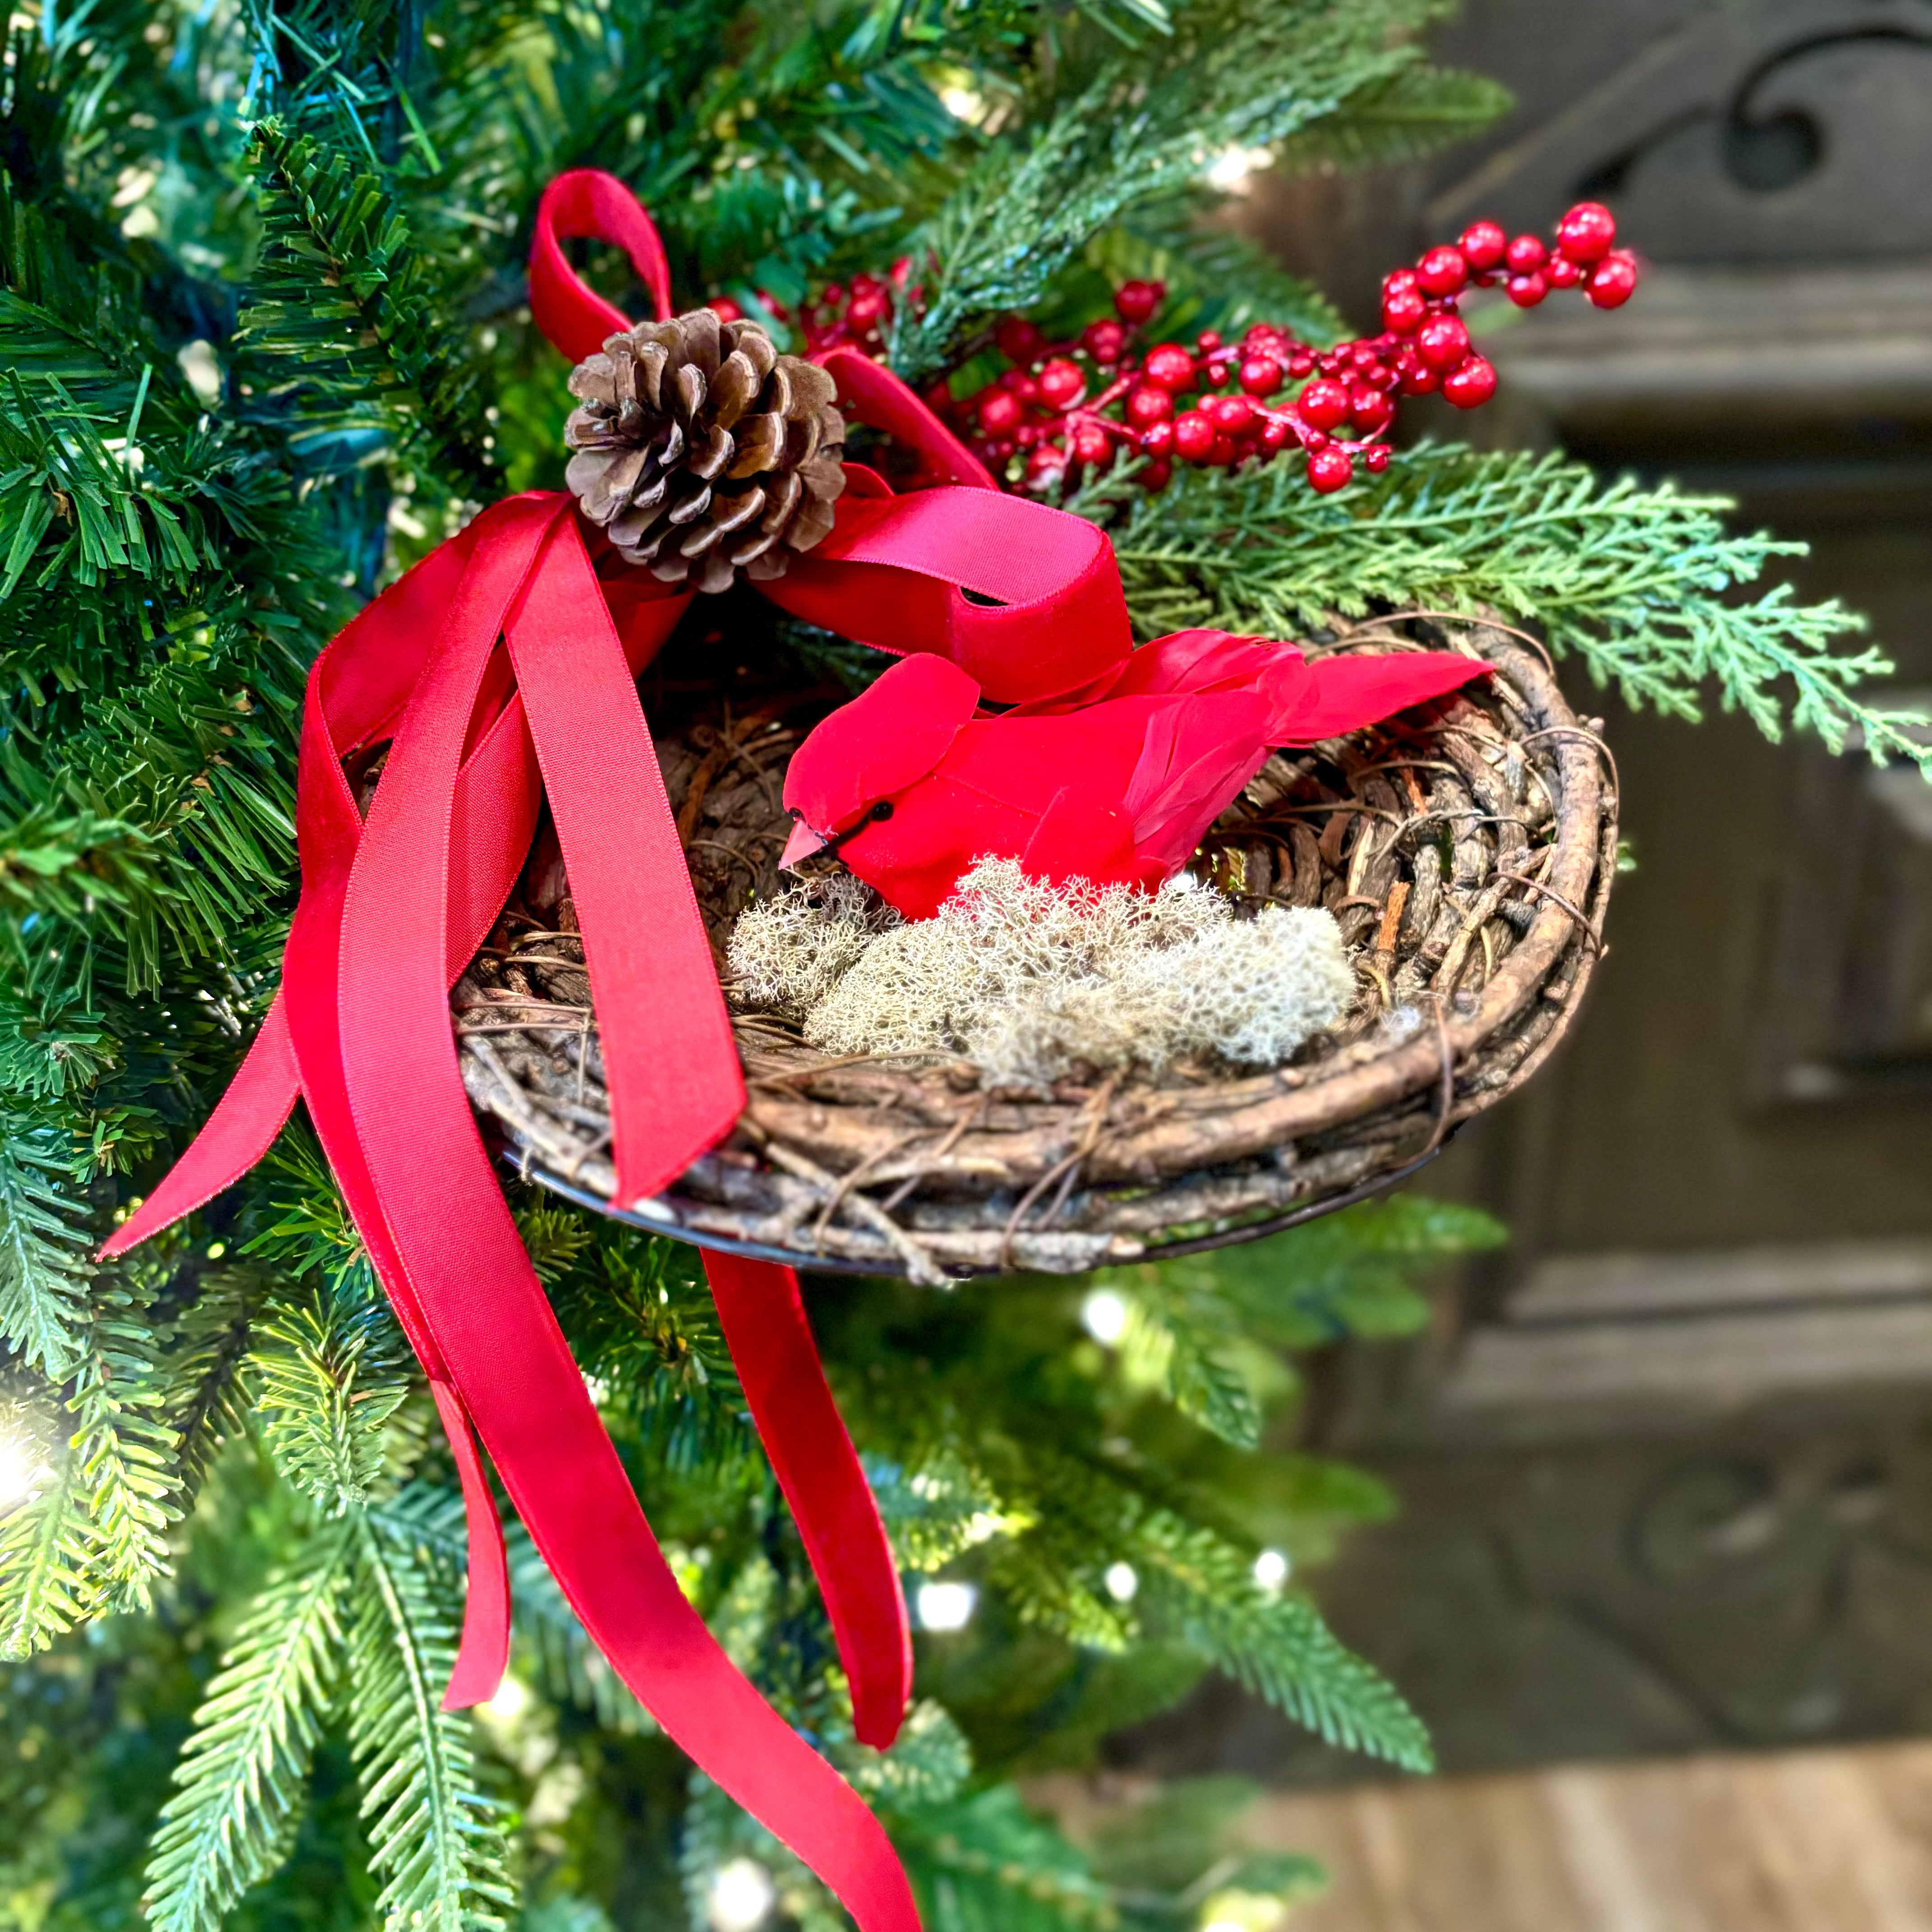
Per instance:
[[[253,1602],[182,1747],[147,1864],[156,1932],[218,1932],[282,1862],[342,1671],[342,1598],[359,1524],[338,1519]]]

